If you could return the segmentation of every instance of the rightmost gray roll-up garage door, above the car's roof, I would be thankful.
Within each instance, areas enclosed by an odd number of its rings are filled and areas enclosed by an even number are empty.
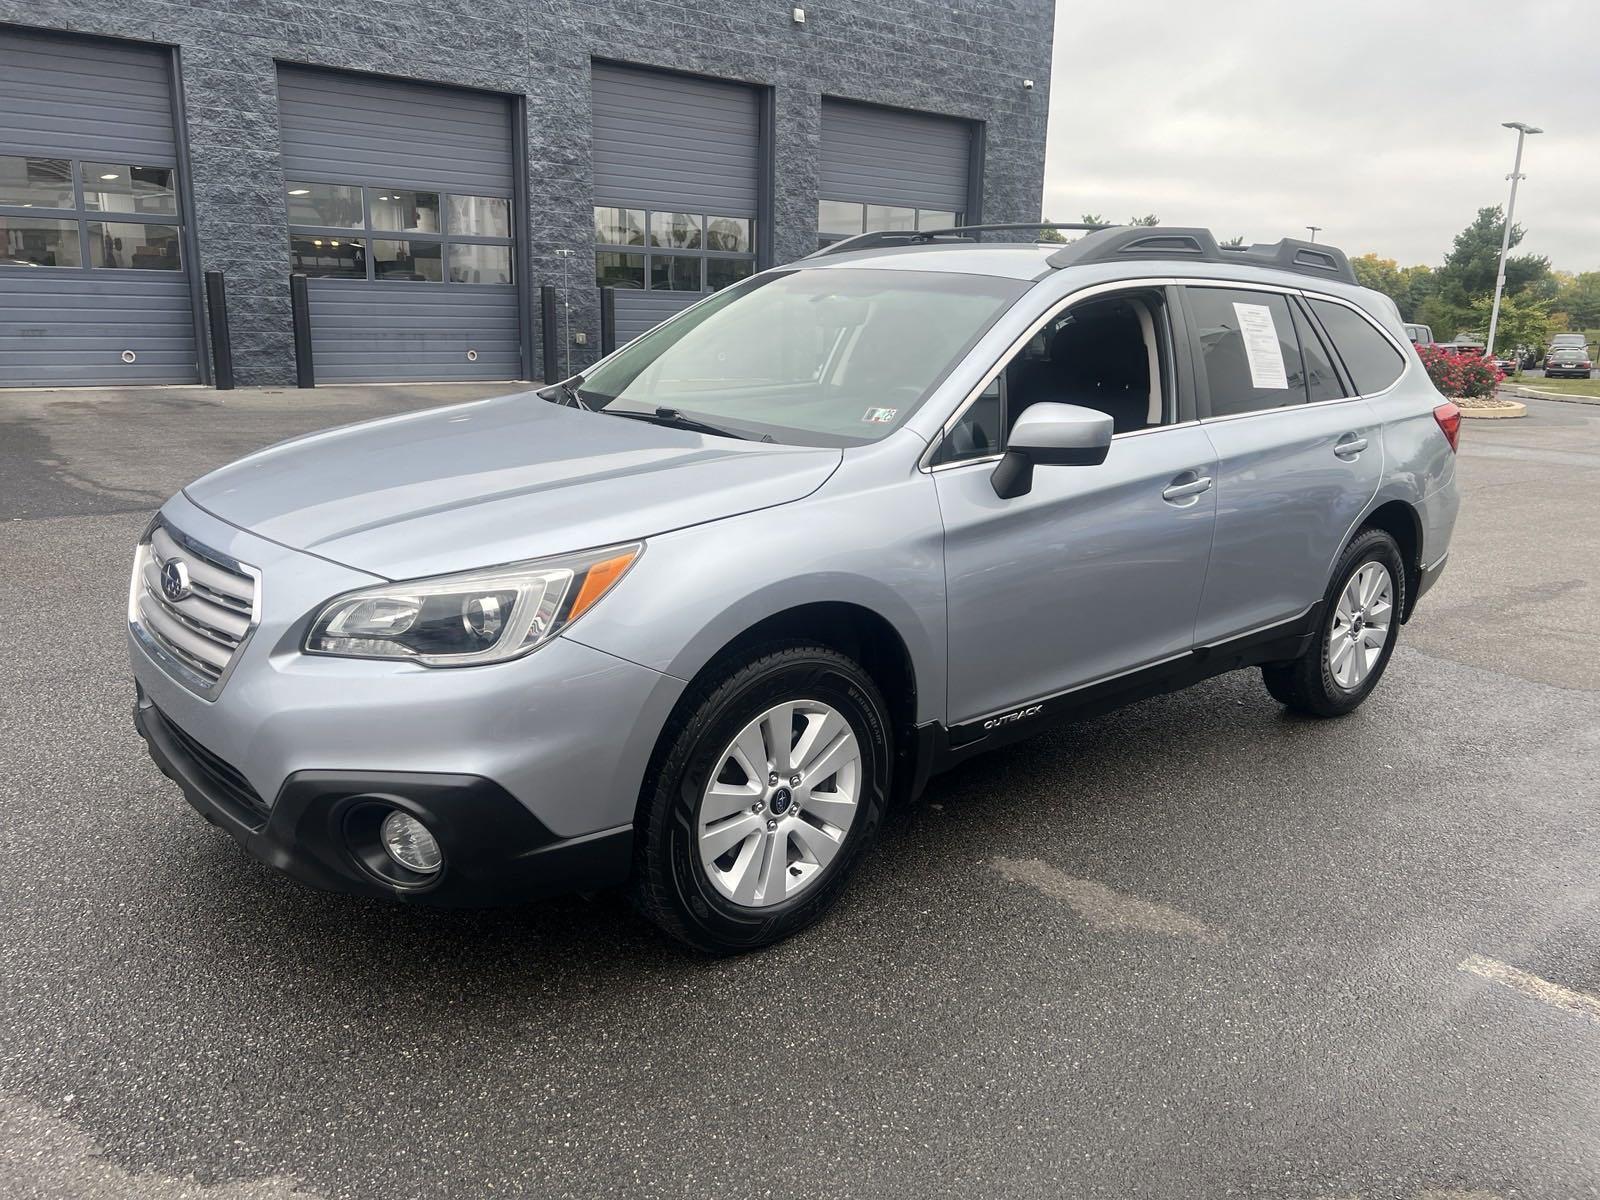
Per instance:
[[[973,126],[955,117],[822,101],[819,230],[947,227],[966,216]]]

